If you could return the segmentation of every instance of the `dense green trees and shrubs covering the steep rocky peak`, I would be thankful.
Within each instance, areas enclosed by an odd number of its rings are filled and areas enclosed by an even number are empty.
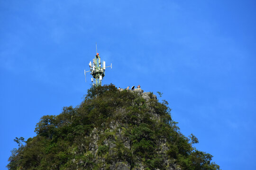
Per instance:
[[[125,162],[130,170],[141,165],[146,170],[170,166],[219,170],[209,153],[192,147],[198,143],[195,136],[185,137],[179,131],[167,104],[152,98],[146,101],[139,93],[120,92],[113,85],[91,87],[78,107],[43,116],[35,129],[37,136],[27,141],[16,138],[19,147],[12,150],[7,167],[108,170],[113,169],[113,162]]]

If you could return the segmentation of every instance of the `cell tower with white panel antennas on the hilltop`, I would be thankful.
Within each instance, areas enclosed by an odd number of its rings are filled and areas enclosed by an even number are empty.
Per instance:
[[[102,67],[102,64],[103,64],[103,67]],[[99,53],[97,53],[97,43],[96,43],[96,56],[94,59],[92,59],[92,63],[90,61],[89,67],[90,67],[89,71],[91,71],[91,76],[93,77],[91,78],[92,85],[96,85],[96,86],[101,85],[101,80],[105,76],[106,68],[111,67],[112,69],[112,63],[110,66],[106,67],[105,61],[101,62],[101,57],[99,56]],[[85,82],[86,82],[86,73],[89,71],[84,70]]]

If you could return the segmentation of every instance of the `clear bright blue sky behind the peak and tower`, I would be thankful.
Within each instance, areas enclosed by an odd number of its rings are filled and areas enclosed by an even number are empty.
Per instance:
[[[15,137],[82,102],[95,42],[103,84],[164,93],[222,170],[256,169],[255,17],[254,0],[0,0],[0,169]]]

